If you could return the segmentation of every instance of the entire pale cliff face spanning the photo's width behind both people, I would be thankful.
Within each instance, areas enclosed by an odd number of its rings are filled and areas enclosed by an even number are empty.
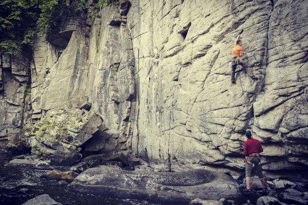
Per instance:
[[[130,150],[171,171],[243,169],[244,131],[252,129],[264,148],[263,169],[306,170],[307,10],[303,0],[122,0],[92,23],[70,20],[67,47],[40,36],[35,42],[31,120],[89,103],[115,131],[89,152]],[[238,68],[232,85],[240,33],[247,71]],[[25,103],[25,86],[10,77],[13,68],[5,71],[7,62],[2,56],[3,148],[22,133]]]

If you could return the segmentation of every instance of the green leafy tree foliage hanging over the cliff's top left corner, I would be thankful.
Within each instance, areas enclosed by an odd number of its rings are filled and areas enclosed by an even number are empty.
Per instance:
[[[86,0],[4,0],[0,2],[0,53],[17,55],[33,44],[38,29],[43,36],[60,17],[86,11]]]

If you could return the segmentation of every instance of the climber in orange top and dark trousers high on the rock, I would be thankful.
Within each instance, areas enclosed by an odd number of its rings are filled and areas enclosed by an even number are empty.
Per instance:
[[[232,55],[233,55],[233,60],[232,60],[232,72],[231,72],[231,83],[235,84],[235,70],[237,65],[241,65],[244,69],[246,69],[246,72],[251,71],[250,69],[247,69],[247,66],[243,64],[243,47],[242,47],[242,42],[239,40],[240,35],[237,36],[234,47],[232,49]],[[249,71],[248,71],[249,70]],[[248,74],[248,73],[247,73]],[[248,75],[252,76],[252,79],[258,79],[256,76],[252,75],[252,73],[249,73]]]

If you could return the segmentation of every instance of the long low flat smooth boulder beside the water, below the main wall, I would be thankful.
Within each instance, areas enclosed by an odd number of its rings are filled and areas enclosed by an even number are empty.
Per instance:
[[[157,201],[240,198],[237,183],[225,174],[190,172],[138,172],[101,166],[81,173],[68,186],[84,193],[111,194],[123,198]]]

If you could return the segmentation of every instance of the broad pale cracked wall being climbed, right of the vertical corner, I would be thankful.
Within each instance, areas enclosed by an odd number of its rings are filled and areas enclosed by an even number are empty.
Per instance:
[[[243,168],[244,131],[254,121],[264,169],[306,169],[304,1],[131,4],[133,151],[166,169],[181,164]],[[240,68],[232,85],[231,51],[241,31],[243,60],[259,79]]]

